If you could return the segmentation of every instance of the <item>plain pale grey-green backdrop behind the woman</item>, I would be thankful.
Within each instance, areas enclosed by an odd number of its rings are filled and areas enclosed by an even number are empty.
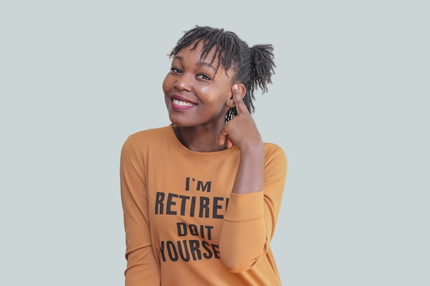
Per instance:
[[[1,1],[0,285],[123,285],[119,158],[194,25],[275,47],[285,286],[430,285],[428,1]],[[202,270],[203,271],[203,270]]]

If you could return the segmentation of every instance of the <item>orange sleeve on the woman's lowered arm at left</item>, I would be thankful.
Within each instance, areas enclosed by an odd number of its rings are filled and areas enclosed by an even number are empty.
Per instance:
[[[126,233],[126,286],[159,286],[160,270],[155,260],[148,222],[148,193],[144,160],[129,137],[120,160],[121,198]]]

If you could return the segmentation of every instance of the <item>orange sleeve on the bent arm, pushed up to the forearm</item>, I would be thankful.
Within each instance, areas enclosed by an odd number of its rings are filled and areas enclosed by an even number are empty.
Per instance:
[[[267,148],[263,191],[230,194],[219,247],[221,260],[231,272],[248,270],[269,251],[278,221],[286,167],[284,151],[280,147]]]

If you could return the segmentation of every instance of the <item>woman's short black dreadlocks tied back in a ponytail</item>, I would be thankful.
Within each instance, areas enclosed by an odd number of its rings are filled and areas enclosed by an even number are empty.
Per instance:
[[[254,91],[260,88],[262,93],[266,93],[267,84],[272,83],[271,76],[275,73],[273,46],[254,45],[249,47],[234,32],[196,25],[193,29],[184,32],[168,56],[176,56],[181,49],[189,47],[193,43],[191,49],[196,49],[200,42],[203,42],[201,60],[206,58],[207,54],[215,47],[211,63],[218,58],[216,69],[218,70],[220,64],[223,64],[226,72],[233,67],[234,77],[232,81],[245,85],[247,91],[243,97],[243,102],[249,112],[253,113],[255,109],[253,101],[256,99]],[[236,107],[230,108],[225,115],[225,121],[229,121],[237,114]]]

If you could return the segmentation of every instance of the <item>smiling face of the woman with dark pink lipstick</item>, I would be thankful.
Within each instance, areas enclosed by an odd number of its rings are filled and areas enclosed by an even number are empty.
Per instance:
[[[170,121],[181,127],[220,128],[225,123],[231,97],[231,69],[225,73],[218,59],[210,63],[214,49],[200,59],[202,43],[185,47],[174,56],[163,81]],[[227,76],[228,75],[228,76]]]

